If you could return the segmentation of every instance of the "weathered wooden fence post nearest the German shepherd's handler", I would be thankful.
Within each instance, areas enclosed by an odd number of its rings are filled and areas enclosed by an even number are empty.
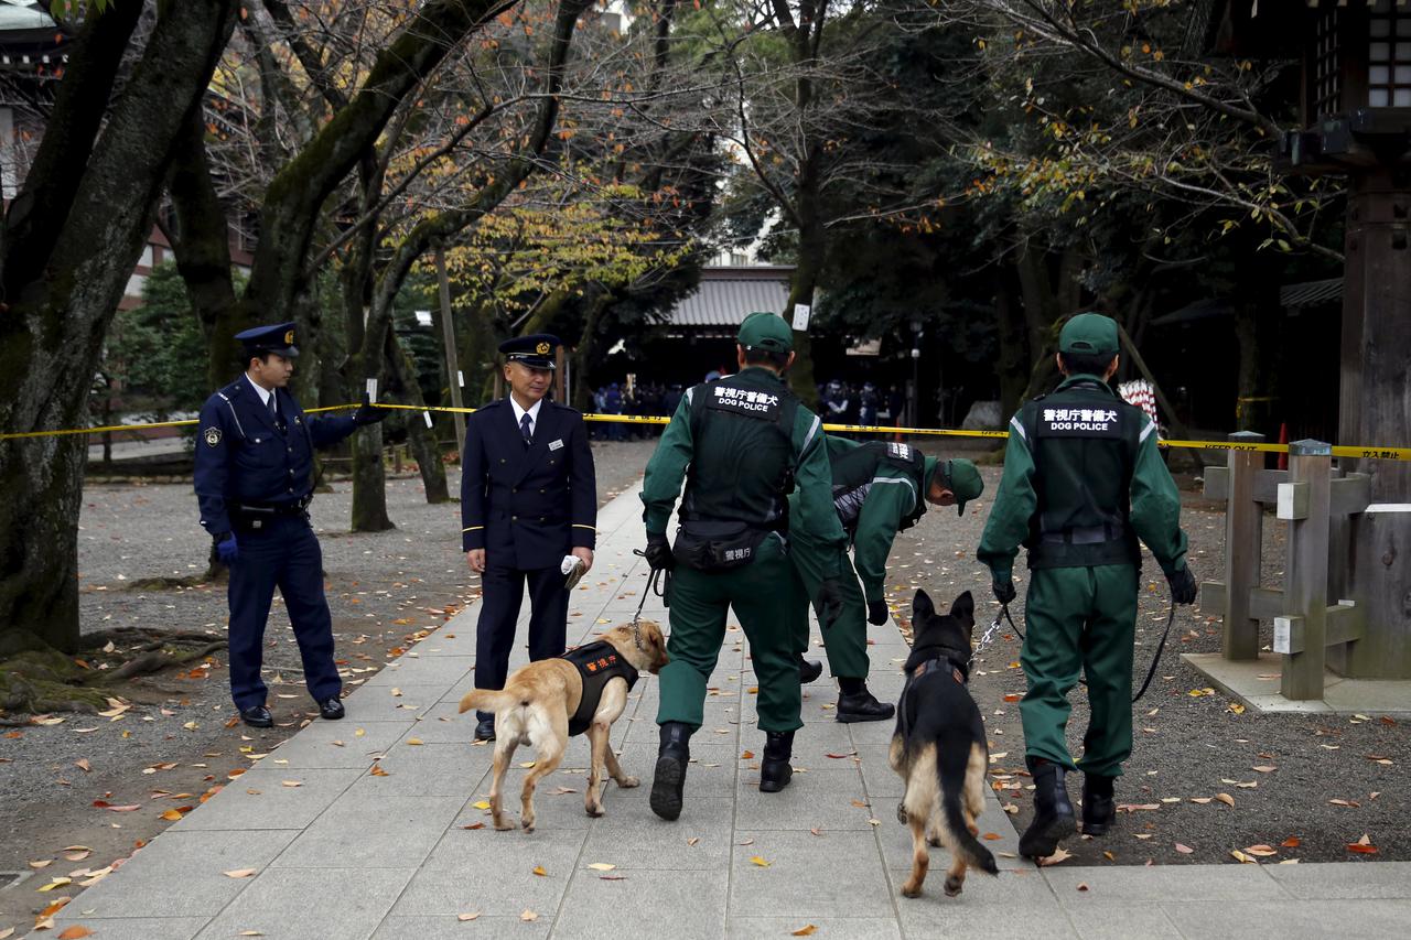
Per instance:
[[[1240,430],[1233,443],[1263,443],[1264,435]],[[1254,476],[1264,469],[1260,450],[1229,452],[1229,498],[1225,511],[1225,635],[1226,659],[1259,658],[1259,620],[1250,615],[1249,593],[1259,587],[1264,508],[1254,500]]]

